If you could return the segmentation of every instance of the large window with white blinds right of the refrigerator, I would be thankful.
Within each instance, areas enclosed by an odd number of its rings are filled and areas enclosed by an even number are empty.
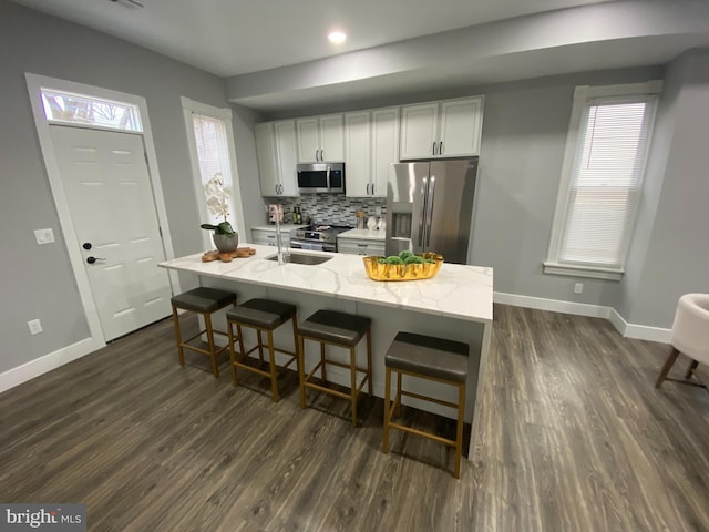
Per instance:
[[[623,275],[659,89],[576,89],[545,273]]]

